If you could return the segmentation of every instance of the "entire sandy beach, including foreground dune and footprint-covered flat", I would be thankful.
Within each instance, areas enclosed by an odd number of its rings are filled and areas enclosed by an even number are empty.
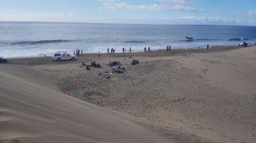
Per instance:
[[[9,64],[34,69],[0,65],[6,83],[0,86],[0,138],[254,143],[255,55],[255,46],[225,46],[101,54],[100,59],[84,54],[61,62],[10,59]],[[133,59],[140,64],[130,65]],[[90,61],[102,68],[80,68]],[[129,72],[109,75],[109,61],[120,61]]]

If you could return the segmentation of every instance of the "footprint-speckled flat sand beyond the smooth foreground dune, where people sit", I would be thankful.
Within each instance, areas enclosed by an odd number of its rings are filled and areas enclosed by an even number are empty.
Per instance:
[[[255,46],[227,46],[102,54],[100,59],[87,54],[74,62],[28,58],[10,63],[47,71],[62,92],[99,106],[217,142],[254,143],[255,53]],[[138,66],[130,65],[133,58],[140,61]],[[114,73],[107,80],[106,64],[113,60],[130,72]],[[86,71],[80,68],[82,61],[96,61],[102,68]]]

